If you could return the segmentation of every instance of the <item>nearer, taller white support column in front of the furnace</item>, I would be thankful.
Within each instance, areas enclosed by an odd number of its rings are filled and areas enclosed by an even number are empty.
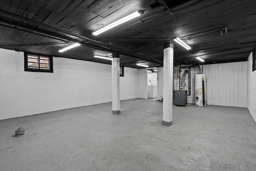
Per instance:
[[[164,45],[164,80],[163,80],[163,121],[162,125],[172,125],[172,79],[173,79],[173,44]]]

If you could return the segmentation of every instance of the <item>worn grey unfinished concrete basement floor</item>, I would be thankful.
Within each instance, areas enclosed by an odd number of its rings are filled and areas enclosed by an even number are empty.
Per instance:
[[[121,101],[0,121],[1,171],[255,171],[256,123],[248,109]],[[24,135],[15,136],[18,127]]]

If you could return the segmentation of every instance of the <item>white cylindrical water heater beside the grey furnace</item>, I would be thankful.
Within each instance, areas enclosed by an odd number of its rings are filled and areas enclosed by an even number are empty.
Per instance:
[[[206,77],[205,77],[205,74],[196,74],[195,105],[206,106]]]

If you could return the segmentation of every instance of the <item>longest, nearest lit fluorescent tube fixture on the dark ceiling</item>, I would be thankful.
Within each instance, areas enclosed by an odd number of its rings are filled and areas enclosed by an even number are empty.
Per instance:
[[[118,26],[119,24],[122,24],[122,23],[124,23],[126,21],[131,20],[132,18],[140,16],[141,14],[143,14],[142,10],[136,11],[136,12],[134,12],[134,13],[124,17],[124,18],[121,18],[120,20],[117,20],[116,22],[113,22],[112,24],[109,24],[108,26],[106,26],[104,28],[101,28],[100,30],[97,30],[96,32],[93,32],[92,34],[95,35],[95,36],[98,35],[98,34],[101,34],[101,33],[105,32],[105,31],[109,30],[110,28]]]

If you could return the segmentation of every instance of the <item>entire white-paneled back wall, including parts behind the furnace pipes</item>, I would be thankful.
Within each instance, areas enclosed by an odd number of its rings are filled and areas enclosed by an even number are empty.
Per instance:
[[[174,67],[174,90],[179,89],[179,78],[177,78],[175,69],[176,67]],[[182,69],[181,77],[184,70]],[[207,103],[209,105],[247,107],[247,70],[247,62],[203,65],[203,74],[206,74]],[[195,72],[198,74],[198,69],[191,68],[190,72],[191,95],[188,96],[188,103],[194,103],[194,74]],[[158,99],[162,96],[161,78],[161,69],[158,69]],[[184,90],[189,91],[188,74],[185,83]]]

